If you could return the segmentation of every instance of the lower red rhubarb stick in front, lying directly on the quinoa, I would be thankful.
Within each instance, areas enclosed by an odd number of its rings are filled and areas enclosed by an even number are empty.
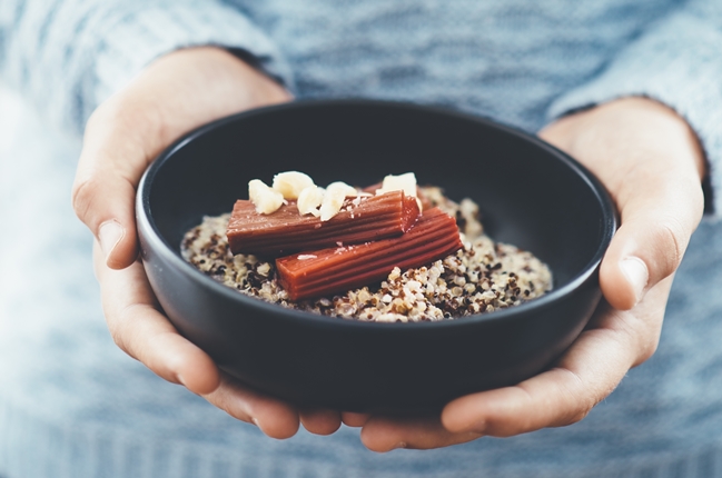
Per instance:
[[[394,267],[422,267],[462,247],[456,220],[432,208],[400,237],[281,257],[276,268],[289,299],[300,300],[367,286],[386,278]]]

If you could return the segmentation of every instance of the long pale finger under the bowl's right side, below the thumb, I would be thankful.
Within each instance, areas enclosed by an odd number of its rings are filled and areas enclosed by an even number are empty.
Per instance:
[[[576,422],[607,397],[627,370],[656,347],[672,278],[650,289],[634,311],[601,308],[555,368],[517,386],[449,402],[449,432],[508,437]]]

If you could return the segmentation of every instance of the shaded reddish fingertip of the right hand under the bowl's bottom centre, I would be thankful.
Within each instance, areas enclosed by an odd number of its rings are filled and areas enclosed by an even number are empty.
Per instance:
[[[397,448],[432,449],[464,444],[479,438],[476,431],[448,431],[434,417],[372,417],[362,429],[363,444],[372,451],[385,452]]]

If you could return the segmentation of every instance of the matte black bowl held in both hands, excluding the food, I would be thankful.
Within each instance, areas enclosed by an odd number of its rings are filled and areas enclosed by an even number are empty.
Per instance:
[[[495,240],[532,251],[554,290],[459,320],[359,322],[285,309],[227,288],[184,261],[184,232],[247,197],[250,179],[299,170],[319,185],[370,185],[414,171],[469,197]],[[306,101],[236,114],[162,152],[138,191],[141,253],[168,318],[239,380],[313,407],[413,411],[517,384],[578,336],[601,291],[616,228],[600,182],[540,139],[438,108]]]

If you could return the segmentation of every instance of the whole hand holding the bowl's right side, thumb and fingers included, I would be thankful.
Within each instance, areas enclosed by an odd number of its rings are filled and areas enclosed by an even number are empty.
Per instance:
[[[696,137],[674,111],[643,98],[562,118],[540,137],[595,173],[620,212],[600,268],[604,299],[550,370],[516,386],[461,397],[436,417],[344,414],[345,424],[363,427],[369,449],[438,448],[571,425],[654,353],[674,271],[703,212]]]

